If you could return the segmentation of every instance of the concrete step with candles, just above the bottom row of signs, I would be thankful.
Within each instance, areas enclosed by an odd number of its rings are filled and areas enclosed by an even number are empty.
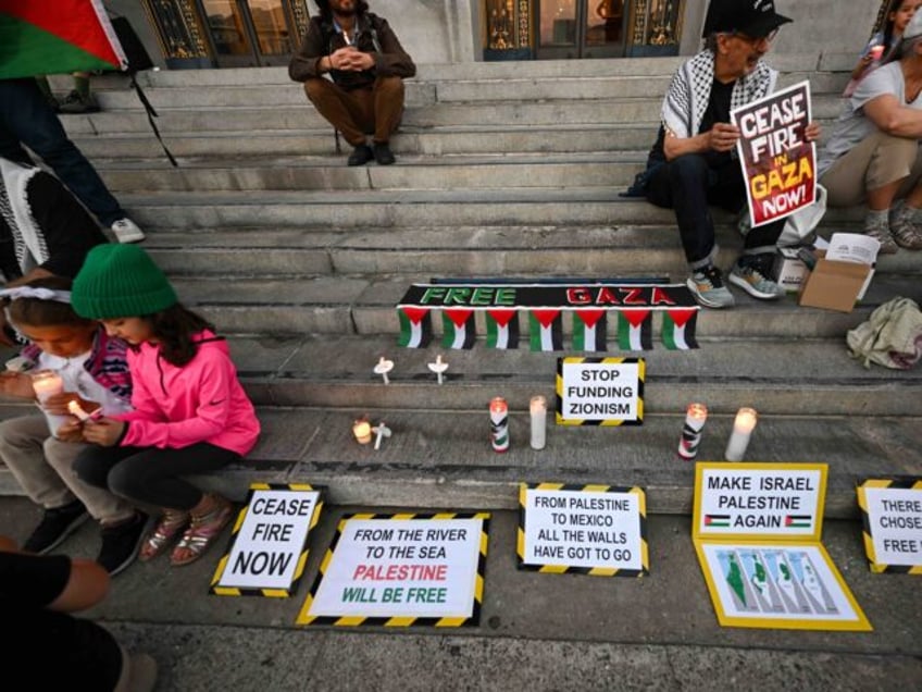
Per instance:
[[[486,392],[502,395],[508,387],[498,380]],[[325,486],[334,505],[404,511],[515,509],[522,482],[639,485],[646,489],[649,514],[690,514],[695,467],[675,453],[684,405],[682,411],[651,413],[640,427],[555,425],[551,419],[547,447],[535,450],[527,443],[528,413],[516,404],[510,413],[510,449],[497,454],[489,445],[488,400],[470,412],[261,406],[262,440],[246,462],[195,480],[238,501],[252,482],[310,482]],[[751,392],[739,391],[737,400],[752,404]],[[394,431],[378,450],[352,437],[353,420],[365,413]],[[922,459],[913,452],[922,443],[920,422],[919,417],[765,413],[746,459],[827,464],[825,516],[854,519],[856,479],[922,474]],[[732,427],[732,415],[710,417],[698,458],[722,459]],[[10,472],[0,469],[0,495],[20,494]]]

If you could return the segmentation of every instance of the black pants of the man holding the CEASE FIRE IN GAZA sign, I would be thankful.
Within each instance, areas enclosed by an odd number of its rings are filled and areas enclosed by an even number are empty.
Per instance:
[[[661,165],[651,176],[647,199],[675,210],[685,259],[692,269],[714,262],[717,243],[709,205],[738,212],[746,203],[746,182],[739,162],[727,155],[687,153]],[[744,254],[771,252],[784,220],[751,228]]]

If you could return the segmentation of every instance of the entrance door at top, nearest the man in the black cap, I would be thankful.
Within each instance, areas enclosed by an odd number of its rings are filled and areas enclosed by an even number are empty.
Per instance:
[[[625,0],[538,0],[539,60],[620,58],[625,53]]]

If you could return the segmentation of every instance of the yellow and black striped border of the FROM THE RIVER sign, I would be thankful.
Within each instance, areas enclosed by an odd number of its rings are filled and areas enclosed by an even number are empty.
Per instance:
[[[487,543],[489,537],[489,512],[439,512],[439,514],[396,514],[396,515],[375,515],[375,514],[354,514],[344,515],[336,527],[336,535],[329,544],[326,554],[323,556],[320,570],[316,579],[311,586],[304,604],[301,606],[296,625],[327,625],[334,627],[473,627],[479,625],[481,609],[484,603],[484,578],[487,567]],[[333,554],[336,551],[336,545],[346,529],[346,522],[350,519],[379,519],[382,521],[402,521],[407,519],[481,519],[479,551],[477,555],[477,573],[474,581],[474,607],[470,617],[456,618],[414,618],[414,617],[357,617],[357,616],[311,616],[311,605],[316,597],[317,589],[323,581],[327,568],[333,561]]]

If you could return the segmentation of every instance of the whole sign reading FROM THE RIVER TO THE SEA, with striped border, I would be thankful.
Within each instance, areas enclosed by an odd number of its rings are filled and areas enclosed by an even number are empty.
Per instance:
[[[298,625],[476,625],[488,520],[488,514],[345,517]]]

